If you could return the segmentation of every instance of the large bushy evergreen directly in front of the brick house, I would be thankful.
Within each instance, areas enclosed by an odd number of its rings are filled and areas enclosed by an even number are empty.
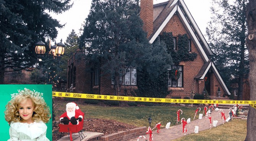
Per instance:
[[[139,71],[150,51],[139,11],[139,0],[92,0],[80,37],[87,59],[113,77],[115,95],[120,95],[125,67]]]

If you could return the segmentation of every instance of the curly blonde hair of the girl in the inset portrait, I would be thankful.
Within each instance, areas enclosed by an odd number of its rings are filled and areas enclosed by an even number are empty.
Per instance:
[[[34,112],[32,120],[42,121],[44,123],[49,122],[51,118],[50,108],[41,97],[34,97],[31,94],[17,95],[11,99],[5,106],[5,120],[11,124],[11,122],[23,122],[23,119],[19,116],[18,105],[23,100],[30,99],[34,104]]]

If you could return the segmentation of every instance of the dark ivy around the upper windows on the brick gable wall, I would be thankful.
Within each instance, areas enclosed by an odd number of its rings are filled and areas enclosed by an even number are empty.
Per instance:
[[[174,49],[172,32],[164,32],[160,35],[160,40],[166,44],[167,52],[172,56],[174,64],[179,64],[181,61],[193,61],[196,59],[197,54],[188,51],[188,36],[178,35],[177,50]]]

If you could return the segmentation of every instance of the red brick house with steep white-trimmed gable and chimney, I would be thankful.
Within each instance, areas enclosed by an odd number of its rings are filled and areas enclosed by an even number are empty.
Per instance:
[[[178,35],[186,34],[190,40],[189,52],[197,54],[193,61],[183,61],[170,68],[169,71],[178,70],[180,76],[178,79],[172,79],[168,74],[168,89],[170,90],[168,98],[189,97],[191,91],[202,93],[204,87],[210,97],[217,97],[218,88],[220,88],[221,97],[223,94],[230,95],[217,68],[211,61],[213,52],[183,0],[169,0],[156,5],[153,5],[153,0],[141,0],[140,16],[150,43],[160,40],[159,35],[163,32],[172,32],[174,38],[171,40],[175,43]],[[109,76],[100,75],[103,72],[97,67],[86,70],[84,60],[78,57],[79,54],[83,52],[76,52],[68,61],[68,87],[73,84],[74,92],[78,93],[113,94],[113,82]],[[136,68],[129,68],[128,73],[125,73],[120,93],[129,95],[134,89],[137,89]]]

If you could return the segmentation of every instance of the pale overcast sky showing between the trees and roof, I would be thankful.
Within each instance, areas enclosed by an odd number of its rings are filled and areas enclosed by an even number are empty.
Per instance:
[[[168,0],[154,0],[154,4],[166,2]],[[188,7],[191,15],[193,16],[196,24],[203,33],[206,34],[207,22],[209,22],[211,17],[210,6],[211,0],[183,0]],[[58,30],[58,36],[56,42],[59,43],[60,40],[63,40],[63,43],[66,41],[66,37],[72,29],[79,35],[79,29],[84,23],[89,10],[91,8],[91,0],[73,0],[73,7],[62,14],[51,14],[53,18],[60,21],[61,24],[66,24],[64,28]],[[206,36],[205,36],[206,38]],[[207,39],[207,38],[206,38]]]

